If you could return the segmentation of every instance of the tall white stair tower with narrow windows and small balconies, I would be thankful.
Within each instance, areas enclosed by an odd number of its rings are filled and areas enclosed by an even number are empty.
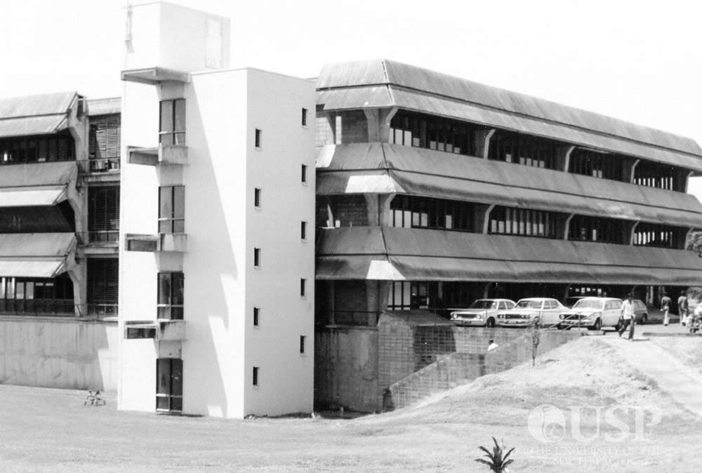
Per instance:
[[[128,13],[119,408],[310,412],[314,82],[228,69],[225,18]]]

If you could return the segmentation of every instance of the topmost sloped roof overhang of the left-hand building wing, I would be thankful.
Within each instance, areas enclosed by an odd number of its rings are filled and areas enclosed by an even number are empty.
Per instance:
[[[68,126],[77,92],[0,99],[0,138],[56,133]]]

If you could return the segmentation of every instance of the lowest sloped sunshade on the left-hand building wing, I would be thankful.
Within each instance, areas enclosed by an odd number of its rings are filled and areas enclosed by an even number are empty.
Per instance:
[[[0,234],[0,276],[56,277],[74,265],[72,233]]]

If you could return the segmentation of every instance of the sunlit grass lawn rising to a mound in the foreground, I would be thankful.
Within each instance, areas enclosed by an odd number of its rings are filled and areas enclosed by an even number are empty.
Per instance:
[[[687,346],[685,347],[687,351]],[[218,420],[83,406],[85,393],[0,386],[2,471],[489,471],[473,459],[491,436],[516,447],[511,472],[700,471],[690,446],[702,424],[632,370],[616,349],[583,337],[420,406],[354,420]],[[595,415],[581,433],[543,444],[533,408],[655,404],[663,418],[642,441],[609,442]],[[632,428],[635,419],[625,418]],[[609,430],[608,430],[609,429]],[[614,431],[613,431],[614,432]],[[599,433],[599,434],[598,434]],[[693,447],[694,448],[694,447]]]

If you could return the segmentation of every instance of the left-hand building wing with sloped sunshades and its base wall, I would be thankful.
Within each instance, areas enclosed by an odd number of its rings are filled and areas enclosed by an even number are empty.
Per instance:
[[[119,128],[115,100],[0,100],[2,382],[117,387]]]

